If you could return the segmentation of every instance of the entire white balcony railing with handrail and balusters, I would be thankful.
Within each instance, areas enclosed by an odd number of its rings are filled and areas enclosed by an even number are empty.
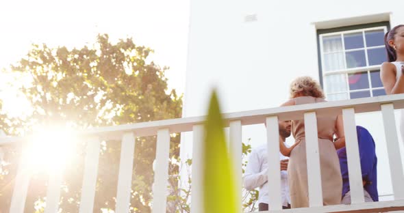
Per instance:
[[[344,100],[338,102],[322,102],[317,104],[304,104],[286,106],[273,109],[244,111],[224,114],[225,125],[229,126],[230,150],[233,154],[234,165],[242,165],[242,126],[250,124],[267,123],[268,139],[268,180],[270,180],[270,212],[387,212],[404,210],[404,175],[403,164],[399,151],[399,140],[394,117],[394,109],[404,108],[404,94],[394,96],[379,96]],[[362,174],[359,163],[357,133],[355,128],[355,113],[381,111],[383,115],[384,131],[388,148],[388,159],[392,177],[394,200],[364,203],[362,189]],[[346,134],[346,150],[349,167],[349,180],[351,186],[351,205],[323,206],[320,183],[320,162],[318,156],[318,139],[316,130],[316,117],[341,114],[344,117]],[[97,182],[97,169],[99,163],[99,150],[101,140],[122,141],[121,162],[118,173],[118,186],[116,195],[116,212],[129,212],[129,199],[131,193],[132,165],[135,149],[135,137],[157,135],[155,180],[153,187],[153,212],[166,212],[166,186],[168,186],[168,152],[171,132],[193,132],[193,159],[192,159],[192,198],[191,211],[203,212],[202,205],[202,155],[203,121],[205,117],[186,117],[181,119],[168,119],[155,122],[127,124],[93,128],[78,134],[86,139],[87,150],[85,170],[82,184],[81,202],[79,212],[93,212],[95,186]],[[304,119],[307,143],[307,172],[309,184],[310,208],[281,210],[280,173],[279,173],[279,132],[278,120]],[[22,137],[2,137],[2,145],[18,144],[25,141]],[[191,141],[190,141],[191,142]],[[29,174],[25,171],[25,162],[22,158],[16,175],[16,184],[12,195],[11,213],[24,211]],[[385,166],[385,165],[379,165]],[[236,167],[236,181],[240,186],[241,197],[241,167]],[[60,201],[61,175],[53,175],[49,179],[47,189],[47,206],[45,212],[58,212]],[[241,208],[240,208],[241,209]],[[240,210],[241,211],[241,210]]]

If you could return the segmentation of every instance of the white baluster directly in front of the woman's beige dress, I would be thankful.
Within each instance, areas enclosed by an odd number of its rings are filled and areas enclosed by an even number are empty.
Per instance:
[[[309,203],[310,207],[323,206],[316,112],[305,113],[304,119]]]

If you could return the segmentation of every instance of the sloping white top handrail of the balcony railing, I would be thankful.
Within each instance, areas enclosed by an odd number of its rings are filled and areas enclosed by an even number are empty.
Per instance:
[[[394,104],[394,109],[404,109],[404,94],[223,113],[223,119],[225,120],[225,127],[228,127],[229,122],[232,120],[240,120],[244,126],[263,124],[266,117],[273,115],[277,115],[279,120],[303,119],[303,114],[307,111],[316,111],[317,117],[341,114],[342,109],[351,107],[355,109],[355,113],[380,111],[381,104],[386,103]],[[80,130],[77,134],[83,137],[98,136],[105,140],[121,140],[121,137],[125,132],[134,132],[136,137],[156,135],[157,130],[164,128],[168,128],[171,133],[190,132],[192,131],[192,126],[203,124],[204,121],[205,115],[197,117],[182,117],[152,122],[88,128],[87,130]],[[25,139],[25,137],[0,137],[0,145],[10,145],[11,143],[25,141]]]

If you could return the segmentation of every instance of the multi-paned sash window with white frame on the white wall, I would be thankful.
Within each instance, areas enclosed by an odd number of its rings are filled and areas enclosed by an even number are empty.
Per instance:
[[[380,66],[386,61],[388,22],[318,30],[320,79],[327,100],[386,95]]]

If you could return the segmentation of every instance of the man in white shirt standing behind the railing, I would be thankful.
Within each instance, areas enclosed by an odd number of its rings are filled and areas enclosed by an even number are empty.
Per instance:
[[[285,142],[290,136],[290,121],[279,122],[279,137]],[[274,141],[277,143],[278,141]],[[258,197],[258,209],[260,211],[268,210],[268,158],[267,145],[260,145],[255,148],[247,162],[247,168],[243,176],[243,185],[247,190],[253,190],[260,187],[260,195]],[[283,209],[290,208],[290,195],[288,186],[288,162],[289,159],[279,153],[281,163],[281,195]]]

